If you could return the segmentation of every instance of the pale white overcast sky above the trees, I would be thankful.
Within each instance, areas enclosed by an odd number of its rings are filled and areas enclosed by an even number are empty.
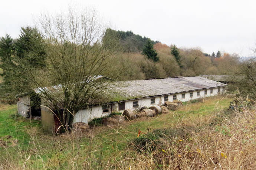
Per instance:
[[[20,27],[42,11],[56,13],[69,4],[95,6],[117,30],[131,30],[178,47],[253,55],[255,0],[1,0],[0,36],[17,38]]]

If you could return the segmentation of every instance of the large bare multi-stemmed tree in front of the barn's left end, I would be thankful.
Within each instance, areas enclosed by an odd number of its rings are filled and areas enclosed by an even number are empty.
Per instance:
[[[111,100],[104,91],[122,73],[114,52],[118,41],[105,35],[107,25],[94,8],[70,7],[51,17],[42,14],[45,67],[28,72],[32,88],[68,127],[78,110]],[[103,75],[108,78],[100,78]]]

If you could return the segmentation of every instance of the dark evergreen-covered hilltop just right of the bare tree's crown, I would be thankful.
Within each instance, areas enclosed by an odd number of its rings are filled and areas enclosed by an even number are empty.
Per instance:
[[[142,37],[139,34],[134,34],[132,31],[116,31],[111,28],[106,29],[105,35],[118,37],[124,52],[140,52],[142,51],[146,41],[150,39],[148,37]],[[152,41],[153,44],[159,42],[160,41]]]

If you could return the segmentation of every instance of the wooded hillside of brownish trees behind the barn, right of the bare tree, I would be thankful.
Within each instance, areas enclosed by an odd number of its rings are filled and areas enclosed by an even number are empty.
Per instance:
[[[212,55],[204,53],[200,48],[177,48],[175,45],[162,44],[150,38],[135,35],[132,31],[115,31],[107,29],[106,34],[112,34],[119,39],[118,59],[123,65],[128,65],[122,79],[147,79],[169,76],[193,76],[200,74],[234,75],[239,73],[241,60],[238,54]],[[149,40],[149,41],[147,41]],[[157,61],[148,57],[145,48],[157,54]]]

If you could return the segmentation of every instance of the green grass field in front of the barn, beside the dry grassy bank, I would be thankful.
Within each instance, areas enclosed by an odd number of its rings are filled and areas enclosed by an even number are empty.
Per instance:
[[[179,141],[184,142],[184,148],[192,148],[193,136],[201,133],[202,128],[209,125],[222,127],[221,122],[230,114],[227,110],[230,101],[232,99],[223,96],[206,98],[203,102],[188,102],[177,111],[153,118],[126,121],[115,127],[99,126],[82,134],[57,136],[43,132],[40,122],[17,116],[16,105],[4,105],[0,109],[0,142],[5,142],[5,146],[0,145],[0,165],[3,169],[22,169],[24,164],[32,169],[168,169],[173,165],[163,160],[155,162],[156,150],[158,153],[160,148],[165,151],[168,147],[180,147]],[[137,136],[139,129],[140,137]],[[185,129],[186,133],[180,133],[180,129]],[[147,147],[146,151],[140,149],[138,152],[138,145],[144,142],[147,146],[152,140],[155,143],[161,141],[153,147],[158,149]],[[183,154],[178,154],[178,158],[180,155]],[[145,167],[136,167],[136,164]]]

